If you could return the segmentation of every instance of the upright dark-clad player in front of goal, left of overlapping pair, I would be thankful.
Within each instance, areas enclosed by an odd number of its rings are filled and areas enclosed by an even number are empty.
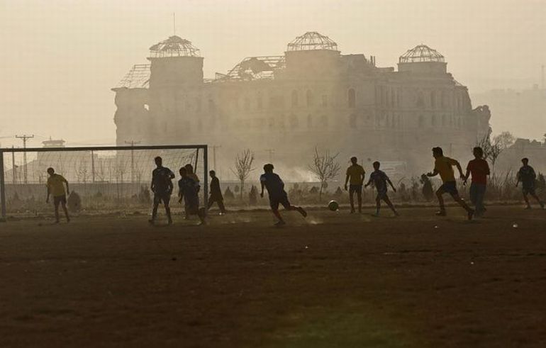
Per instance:
[[[152,172],[152,192],[154,193],[154,208],[152,209],[152,219],[150,223],[155,223],[157,217],[157,207],[163,202],[165,206],[165,213],[167,213],[167,219],[169,225],[172,224],[171,208],[169,202],[171,200],[172,193],[172,179],[174,179],[174,173],[171,169],[163,167],[163,159],[161,157],[155,157],[155,168]]]

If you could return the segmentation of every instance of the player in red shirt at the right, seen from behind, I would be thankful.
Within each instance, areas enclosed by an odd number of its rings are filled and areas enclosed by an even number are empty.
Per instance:
[[[467,180],[472,174],[472,184],[470,184],[470,201],[474,204],[474,211],[476,216],[481,216],[485,213],[486,208],[484,206],[484,196],[487,186],[487,176],[489,172],[489,164],[483,158],[484,150],[481,147],[474,147],[472,150],[474,159],[468,162],[467,174],[464,175],[464,184],[467,184]]]

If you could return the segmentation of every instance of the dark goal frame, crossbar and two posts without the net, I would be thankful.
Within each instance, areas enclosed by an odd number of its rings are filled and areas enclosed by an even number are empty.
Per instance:
[[[208,145],[135,145],[135,146],[89,146],[89,147],[0,147],[0,217],[6,219],[6,177],[4,154],[13,152],[77,152],[77,151],[136,151],[136,150],[202,150],[204,158],[204,197],[208,196]]]

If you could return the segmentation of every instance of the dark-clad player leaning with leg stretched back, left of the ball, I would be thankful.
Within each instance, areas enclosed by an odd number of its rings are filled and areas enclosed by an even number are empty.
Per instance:
[[[279,220],[275,224],[276,226],[286,225],[279,213],[279,204],[282,204],[287,211],[298,211],[303,218],[307,216],[307,212],[303,208],[290,204],[288,194],[284,191],[284,182],[282,182],[280,176],[273,172],[273,164],[264,165],[264,174],[260,176],[260,184],[262,184],[260,197],[264,197],[264,188],[266,188],[269,194],[269,206],[271,206],[273,214]]]

